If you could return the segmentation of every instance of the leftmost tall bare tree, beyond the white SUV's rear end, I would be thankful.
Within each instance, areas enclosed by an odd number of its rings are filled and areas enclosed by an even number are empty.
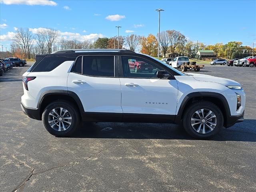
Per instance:
[[[29,28],[19,28],[16,32],[14,44],[23,52],[26,58],[30,59],[30,52],[34,42],[34,36]]]

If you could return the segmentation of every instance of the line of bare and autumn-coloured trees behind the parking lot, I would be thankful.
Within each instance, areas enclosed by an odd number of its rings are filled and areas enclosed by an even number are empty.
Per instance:
[[[202,42],[192,42],[179,31],[166,30],[160,32],[159,46],[160,57],[167,57],[168,53],[178,53],[190,58],[199,58],[198,50],[213,50],[218,58],[238,58],[252,54],[250,46],[242,46],[242,42],[228,42],[205,45]],[[119,42],[119,45],[118,45]],[[94,42],[77,39],[67,40],[60,38],[58,31],[50,28],[38,29],[33,34],[28,28],[18,28],[11,44],[11,53],[14,57],[34,58],[36,54],[49,54],[56,50],[64,49],[117,49],[127,48],[156,57],[158,54],[158,34],[98,38]],[[254,50],[256,53],[256,49]]]

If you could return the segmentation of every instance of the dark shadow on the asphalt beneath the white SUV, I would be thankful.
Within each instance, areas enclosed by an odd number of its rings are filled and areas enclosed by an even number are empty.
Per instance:
[[[244,120],[230,128],[223,128],[219,134],[207,140],[256,142],[255,124],[256,120]],[[152,123],[84,123],[72,137],[196,140],[178,125]]]

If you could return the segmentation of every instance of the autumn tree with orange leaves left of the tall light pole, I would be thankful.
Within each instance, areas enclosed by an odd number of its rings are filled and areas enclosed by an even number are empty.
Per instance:
[[[141,52],[150,56],[157,55],[158,42],[156,37],[149,34],[148,37],[141,38]]]

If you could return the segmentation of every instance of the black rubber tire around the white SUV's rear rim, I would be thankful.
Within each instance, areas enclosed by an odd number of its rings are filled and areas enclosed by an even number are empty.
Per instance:
[[[72,122],[71,122],[70,126],[66,130],[62,130],[62,131],[54,130],[48,123],[49,113],[54,108],[60,108],[60,107],[68,110],[68,112],[70,113],[70,115],[72,117]],[[50,103],[48,106],[46,106],[46,108],[44,109],[44,112],[42,114],[42,121],[43,121],[44,127],[50,134],[52,134],[54,136],[58,136],[58,137],[70,136],[72,133],[74,133],[78,129],[79,124],[80,124],[80,115],[78,114],[78,111],[79,110],[76,106],[74,106],[73,104],[71,104],[67,101],[62,101],[62,100],[54,101],[54,102]]]

